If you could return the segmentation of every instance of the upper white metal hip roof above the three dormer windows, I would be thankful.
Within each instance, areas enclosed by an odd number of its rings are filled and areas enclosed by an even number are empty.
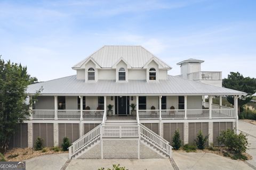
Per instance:
[[[154,56],[142,46],[103,46],[72,68],[80,69],[81,66],[90,59],[95,61],[102,68],[111,68],[121,58],[130,64],[132,68],[142,68],[148,61],[154,58],[154,60],[163,65],[163,68],[171,69],[168,64]]]

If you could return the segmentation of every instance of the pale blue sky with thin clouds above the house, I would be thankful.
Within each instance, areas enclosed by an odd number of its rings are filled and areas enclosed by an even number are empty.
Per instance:
[[[256,77],[255,0],[0,0],[0,55],[39,81],[76,74],[71,67],[104,45],[141,45],[180,74],[202,71]]]

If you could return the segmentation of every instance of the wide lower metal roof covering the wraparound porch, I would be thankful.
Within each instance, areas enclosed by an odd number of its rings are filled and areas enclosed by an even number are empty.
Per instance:
[[[115,80],[99,80],[98,82],[84,82],[77,80],[76,75],[40,82],[28,86],[27,92],[35,94],[43,87],[44,96],[196,96],[196,95],[246,95],[245,92],[221,88],[187,80],[172,75],[167,80],[146,82],[146,80],[129,80],[118,83]]]

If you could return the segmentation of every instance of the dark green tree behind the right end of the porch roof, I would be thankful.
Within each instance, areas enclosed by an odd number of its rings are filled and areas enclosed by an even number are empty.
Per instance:
[[[256,92],[256,79],[250,77],[243,77],[238,72],[230,72],[227,79],[222,80],[222,86],[229,89],[246,92],[246,96],[238,99],[238,113],[243,111],[243,105],[252,100],[252,95]],[[234,105],[234,97],[227,96],[229,103]]]

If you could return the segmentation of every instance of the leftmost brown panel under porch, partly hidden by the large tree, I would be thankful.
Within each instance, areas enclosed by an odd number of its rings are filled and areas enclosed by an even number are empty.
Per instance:
[[[9,148],[27,148],[28,147],[28,124],[20,123],[18,130],[10,140]]]

